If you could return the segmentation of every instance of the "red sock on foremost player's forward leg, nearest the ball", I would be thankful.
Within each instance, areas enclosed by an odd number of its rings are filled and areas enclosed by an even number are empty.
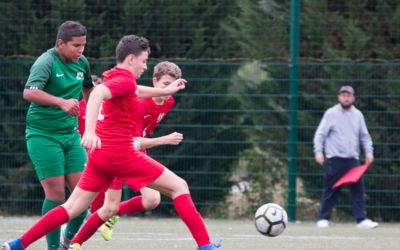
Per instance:
[[[210,244],[210,237],[200,213],[193,204],[190,194],[182,194],[174,200],[175,210],[192,233],[198,246]]]

